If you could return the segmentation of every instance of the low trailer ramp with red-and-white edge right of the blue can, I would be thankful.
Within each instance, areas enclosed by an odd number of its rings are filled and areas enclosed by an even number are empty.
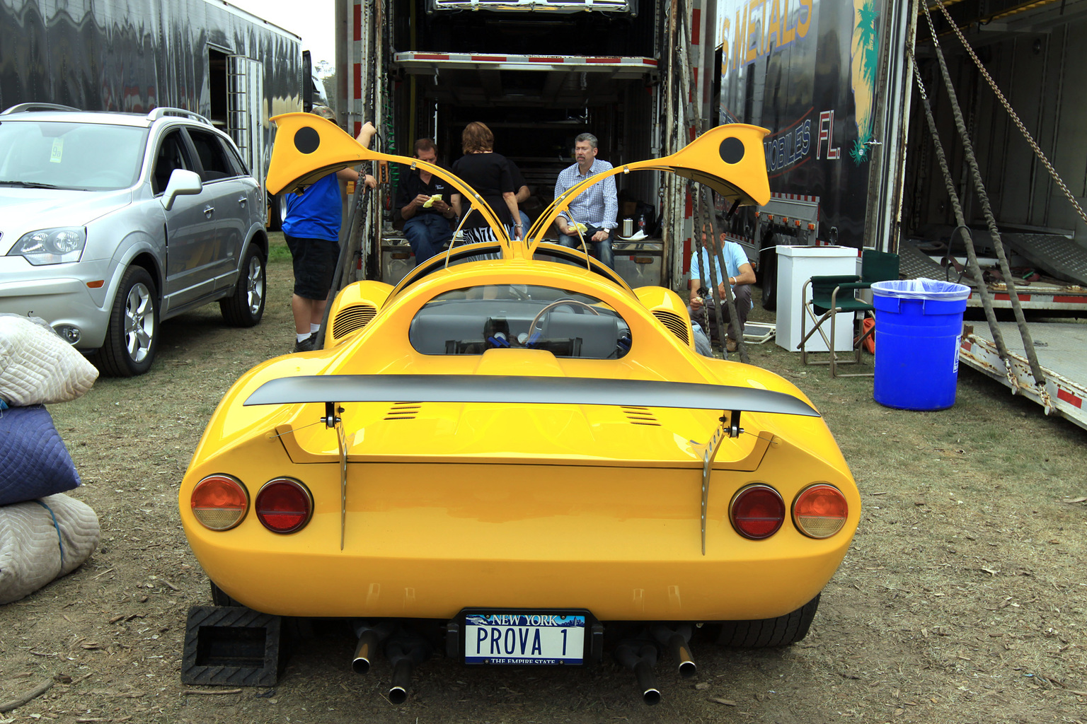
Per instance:
[[[1087,430],[1087,323],[1027,322],[1034,339],[1038,363],[1046,376],[1045,391],[1034,384],[1023,340],[1015,322],[999,322],[1010,354],[1015,391],[1045,408],[1046,415],[1060,415]],[[959,359],[963,364],[1012,388],[1004,373],[985,322],[963,329]]]

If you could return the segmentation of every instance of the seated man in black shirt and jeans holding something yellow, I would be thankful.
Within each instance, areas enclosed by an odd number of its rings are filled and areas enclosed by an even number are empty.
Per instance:
[[[415,157],[430,164],[438,163],[438,148],[428,138],[415,141]],[[400,181],[397,193],[397,207],[404,219],[404,237],[415,254],[415,265],[418,266],[441,251],[441,247],[453,237],[449,226],[453,207],[449,205],[453,188],[440,178],[414,169]],[[441,194],[440,199],[430,202],[430,198]],[[427,202],[430,205],[427,206]]]

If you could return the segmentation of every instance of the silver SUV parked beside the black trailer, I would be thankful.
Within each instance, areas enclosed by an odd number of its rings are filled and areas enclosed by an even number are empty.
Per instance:
[[[0,113],[0,312],[42,317],[103,372],[146,372],[159,322],[201,304],[258,323],[266,258],[261,187],[203,116]]]

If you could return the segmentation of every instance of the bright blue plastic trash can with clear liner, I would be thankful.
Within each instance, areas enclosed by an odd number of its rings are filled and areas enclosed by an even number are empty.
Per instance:
[[[886,407],[938,410],[954,405],[962,313],[970,287],[934,279],[872,284],[876,316],[872,396]]]

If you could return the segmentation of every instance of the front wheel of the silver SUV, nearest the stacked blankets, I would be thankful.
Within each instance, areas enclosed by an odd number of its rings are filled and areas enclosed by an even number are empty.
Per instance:
[[[134,377],[151,368],[158,346],[159,297],[154,281],[143,267],[128,267],[113,299],[105,343],[95,361],[111,377]]]

